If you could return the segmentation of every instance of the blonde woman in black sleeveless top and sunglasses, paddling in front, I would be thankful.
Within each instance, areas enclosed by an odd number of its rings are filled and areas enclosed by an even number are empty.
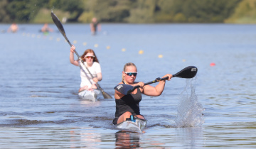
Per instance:
[[[131,94],[124,95],[115,90],[114,99],[116,102],[116,112],[113,124],[121,123],[129,118],[131,115],[134,117],[145,119],[139,112],[139,102],[142,100],[142,94],[148,96],[159,96],[164,91],[165,80],[160,81],[156,87],[150,85],[144,86],[143,82],[134,82],[137,76],[137,67],[134,63],[129,62],[124,65],[124,71],[122,72],[122,82],[119,84],[129,84],[132,86],[139,85],[140,87],[135,89]],[[171,79],[171,74],[166,74],[164,77]]]

